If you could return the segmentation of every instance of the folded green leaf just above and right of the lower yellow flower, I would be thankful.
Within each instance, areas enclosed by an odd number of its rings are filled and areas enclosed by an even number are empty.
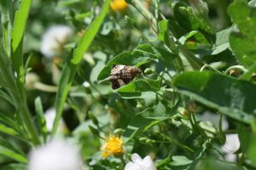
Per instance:
[[[148,108],[136,116],[132,117],[131,122],[123,134],[125,143],[130,141],[135,136],[148,130],[154,125],[166,121],[170,116],[166,115],[166,108],[159,103],[152,108]]]

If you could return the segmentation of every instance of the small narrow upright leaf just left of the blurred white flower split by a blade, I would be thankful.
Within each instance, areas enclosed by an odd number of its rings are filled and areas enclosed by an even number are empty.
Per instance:
[[[41,101],[40,97],[38,97],[35,100],[35,106],[36,106],[36,112],[37,112],[38,121],[39,121],[38,124],[39,124],[39,128],[40,128],[40,132],[43,136],[44,143],[46,143],[48,130],[46,127],[46,120],[44,117],[43,105],[42,105],[42,101]]]

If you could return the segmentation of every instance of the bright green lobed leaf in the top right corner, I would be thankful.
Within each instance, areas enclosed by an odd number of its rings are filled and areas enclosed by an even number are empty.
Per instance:
[[[250,67],[256,61],[256,9],[237,1],[230,5],[229,14],[240,31],[231,32],[230,47],[241,64]]]

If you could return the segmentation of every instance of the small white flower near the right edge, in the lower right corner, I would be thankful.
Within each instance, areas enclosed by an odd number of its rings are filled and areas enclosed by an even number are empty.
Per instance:
[[[236,161],[235,152],[240,148],[240,140],[238,134],[226,134],[226,142],[222,146],[227,161]]]

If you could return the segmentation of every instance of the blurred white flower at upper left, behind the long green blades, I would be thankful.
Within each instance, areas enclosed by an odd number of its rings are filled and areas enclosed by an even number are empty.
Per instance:
[[[62,46],[72,35],[72,28],[69,26],[52,26],[43,35],[41,42],[41,53],[46,57],[54,57],[61,54]]]

